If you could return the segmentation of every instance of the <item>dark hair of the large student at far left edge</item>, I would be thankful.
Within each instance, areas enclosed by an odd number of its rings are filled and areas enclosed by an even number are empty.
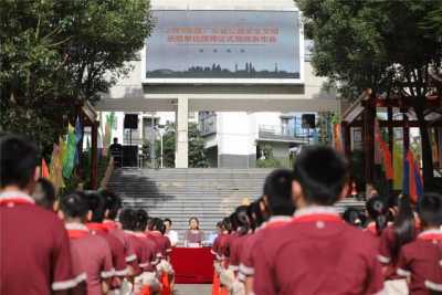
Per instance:
[[[32,140],[19,135],[0,138],[0,188],[14,185],[24,189],[38,165],[39,151]]]

